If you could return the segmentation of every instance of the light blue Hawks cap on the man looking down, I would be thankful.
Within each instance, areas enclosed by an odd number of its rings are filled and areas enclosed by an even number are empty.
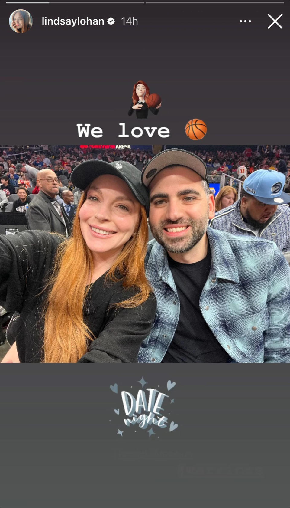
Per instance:
[[[290,195],[283,192],[285,180],[285,175],[279,171],[259,169],[245,179],[243,189],[261,203],[282,205],[290,203]]]

